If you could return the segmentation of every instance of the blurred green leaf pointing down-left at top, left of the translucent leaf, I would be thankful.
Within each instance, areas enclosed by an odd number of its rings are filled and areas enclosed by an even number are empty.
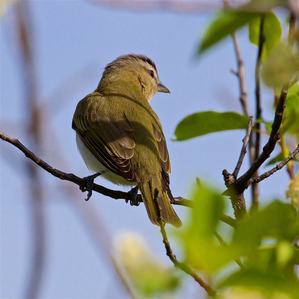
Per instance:
[[[237,29],[245,26],[250,20],[260,16],[261,13],[226,9],[218,13],[203,34],[199,54],[215,45]]]

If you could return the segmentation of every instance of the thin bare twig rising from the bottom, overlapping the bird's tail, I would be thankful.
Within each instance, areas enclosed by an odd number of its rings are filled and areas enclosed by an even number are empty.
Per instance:
[[[154,193],[154,203],[155,203],[155,206],[156,206],[156,210],[157,210],[157,216],[158,216],[158,223],[160,225],[160,229],[161,229],[161,234],[163,236],[163,243],[165,245],[165,249],[166,249],[166,254],[167,256],[170,258],[170,260],[173,262],[174,266],[176,268],[179,268],[181,269],[182,271],[184,271],[185,273],[189,274],[190,276],[192,276],[194,278],[194,280],[196,282],[199,283],[199,285],[205,289],[205,291],[208,293],[209,296],[211,297],[215,297],[217,295],[216,291],[214,289],[212,289],[207,283],[205,283],[202,278],[200,278],[196,273],[195,271],[193,271],[188,265],[184,264],[184,263],[181,263],[179,262],[177,259],[176,259],[176,256],[175,254],[173,254],[173,251],[170,247],[170,243],[167,239],[167,234],[166,234],[166,231],[165,231],[165,222],[164,220],[162,219],[162,216],[161,216],[161,207],[159,206],[159,203],[158,203],[158,189],[156,188],[155,189],[155,193]]]

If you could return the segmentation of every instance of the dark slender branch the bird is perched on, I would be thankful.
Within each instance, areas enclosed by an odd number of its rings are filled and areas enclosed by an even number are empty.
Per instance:
[[[39,165],[44,170],[46,170],[48,173],[50,173],[51,175],[57,177],[58,179],[73,182],[73,183],[77,184],[80,187],[87,187],[87,183],[86,183],[85,179],[81,179],[81,178],[79,178],[78,176],[75,176],[72,173],[65,173],[65,172],[62,172],[58,169],[55,169],[55,168],[51,167],[48,163],[46,163],[45,161],[43,161],[42,159],[37,157],[33,152],[31,152],[27,147],[25,147],[18,139],[10,137],[10,136],[4,134],[3,132],[0,132],[0,138],[4,141],[7,141],[8,143],[14,145],[18,149],[20,149],[25,154],[25,156],[27,158],[29,158],[30,160],[35,162],[37,165]],[[105,196],[109,196],[113,199],[126,199],[128,201],[130,199],[132,199],[131,195],[129,195],[128,192],[111,190],[111,189],[105,188],[105,187],[103,187],[101,185],[98,185],[98,184],[95,184],[95,183],[93,184],[92,190],[95,191],[95,192],[101,193]],[[141,197],[140,194],[137,195],[137,200],[139,202],[143,202],[142,197]],[[171,203],[173,205],[182,205],[182,206],[189,207],[189,208],[193,207],[192,200],[184,199],[181,196],[174,197],[174,199]],[[221,215],[220,220],[222,222],[227,223],[228,225],[230,225],[232,227],[237,226],[236,220],[231,218],[230,216],[225,215],[225,214]]]

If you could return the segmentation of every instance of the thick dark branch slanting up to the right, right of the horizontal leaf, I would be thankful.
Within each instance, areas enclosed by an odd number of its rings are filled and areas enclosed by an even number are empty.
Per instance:
[[[292,32],[295,28],[295,16],[291,14],[290,18],[290,27],[289,27],[289,45],[292,46],[294,44],[294,39],[292,38]],[[236,187],[239,190],[245,190],[248,181],[254,176],[254,173],[260,168],[260,166],[266,161],[266,159],[270,156],[271,152],[273,152],[276,142],[280,139],[279,128],[283,119],[283,111],[286,108],[286,96],[288,94],[289,82],[286,82],[283,85],[283,88],[280,92],[280,97],[276,106],[274,121],[272,123],[272,130],[270,133],[270,137],[266,145],[263,147],[263,151],[258,156],[258,158],[253,162],[251,167],[237,179],[235,182]]]

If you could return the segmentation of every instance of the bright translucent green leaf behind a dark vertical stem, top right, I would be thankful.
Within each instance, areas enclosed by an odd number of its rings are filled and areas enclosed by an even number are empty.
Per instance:
[[[260,24],[262,16],[251,19],[249,22],[249,39],[250,41],[259,46],[260,43]],[[263,37],[265,39],[263,44],[262,60],[264,60],[268,53],[280,41],[282,28],[279,19],[273,12],[265,15]]]

